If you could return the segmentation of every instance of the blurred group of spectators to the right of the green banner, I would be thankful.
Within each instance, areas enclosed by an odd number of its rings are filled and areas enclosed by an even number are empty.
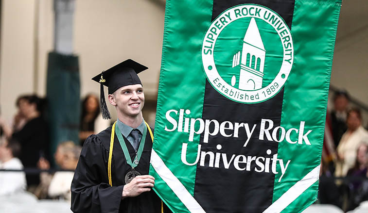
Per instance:
[[[326,116],[318,197],[344,211],[368,200],[368,131],[349,99],[346,91],[337,91]]]

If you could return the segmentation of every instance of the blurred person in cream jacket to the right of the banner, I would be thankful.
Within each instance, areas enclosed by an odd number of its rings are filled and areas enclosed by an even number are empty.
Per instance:
[[[343,134],[337,147],[336,177],[345,177],[356,160],[360,144],[368,143],[368,131],[362,127],[362,116],[357,108],[351,109],[347,117],[348,130]]]

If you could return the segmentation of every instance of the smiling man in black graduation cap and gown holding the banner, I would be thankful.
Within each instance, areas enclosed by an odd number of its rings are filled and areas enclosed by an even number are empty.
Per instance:
[[[83,145],[71,183],[74,213],[169,212],[152,190],[154,177],[148,175],[152,149],[150,130],[153,132],[153,129],[143,120],[144,94],[137,75],[145,69],[147,67],[129,59],[92,79],[101,83],[103,117],[110,118],[103,93],[105,85],[118,121],[90,135]]]

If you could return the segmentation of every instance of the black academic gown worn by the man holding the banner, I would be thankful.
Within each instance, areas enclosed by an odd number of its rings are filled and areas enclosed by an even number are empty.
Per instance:
[[[161,200],[153,190],[121,199],[125,174],[131,166],[126,163],[116,134],[111,163],[112,186],[108,184],[110,136],[111,126],[86,139],[71,183],[71,210],[74,213],[160,213]],[[133,160],[134,148],[125,137],[124,140]],[[152,140],[147,131],[140,162],[135,167],[141,175],[148,174],[151,149]]]

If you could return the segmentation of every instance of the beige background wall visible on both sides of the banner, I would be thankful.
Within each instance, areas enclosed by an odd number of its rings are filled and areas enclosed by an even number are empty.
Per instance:
[[[368,105],[368,0],[345,0],[336,38],[331,84]],[[53,0],[2,0],[0,107],[8,121],[25,93],[44,96],[47,53],[53,49]],[[99,94],[90,79],[132,58],[149,67],[140,74],[147,99],[157,95],[164,0],[76,0],[74,53],[81,95]],[[113,110],[110,110],[113,112]],[[367,122],[367,121],[366,121]]]

